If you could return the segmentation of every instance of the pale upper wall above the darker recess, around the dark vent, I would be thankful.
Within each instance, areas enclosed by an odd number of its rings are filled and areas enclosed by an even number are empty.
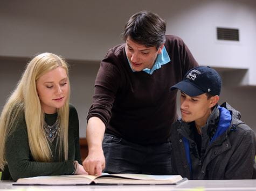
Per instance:
[[[181,36],[199,63],[229,68],[255,65],[254,0],[4,0],[0,55],[27,57],[48,51],[70,59],[101,60],[110,47],[122,42],[120,33],[128,18],[144,9],[167,20],[167,33]],[[217,41],[217,26],[239,28],[240,42]],[[254,75],[250,83],[256,85]]]

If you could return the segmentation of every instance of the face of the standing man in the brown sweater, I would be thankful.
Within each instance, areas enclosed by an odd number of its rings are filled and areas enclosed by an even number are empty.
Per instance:
[[[158,54],[161,54],[162,45],[158,50],[156,47],[146,47],[134,42],[130,37],[126,39],[126,54],[134,71],[145,68],[151,69]]]

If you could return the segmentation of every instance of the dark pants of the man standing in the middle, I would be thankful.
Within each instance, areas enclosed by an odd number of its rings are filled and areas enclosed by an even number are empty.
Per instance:
[[[167,175],[171,172],[171,143],[140,145],[105,134],[103,152],[107,173]]]

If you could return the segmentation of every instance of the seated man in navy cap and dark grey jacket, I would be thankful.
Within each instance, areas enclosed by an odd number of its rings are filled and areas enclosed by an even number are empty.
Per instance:
[[[171,127],[172,170],[189,179],[252,179],[253,130],[229,104],[218,106],[222,80],[196,67],[171,87],[181,90],[181,114]],[[254,167],[253,167],[254,166]]]

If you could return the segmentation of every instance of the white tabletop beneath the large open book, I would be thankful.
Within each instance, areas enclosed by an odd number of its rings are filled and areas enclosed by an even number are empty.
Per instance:
[[[256,180],[189,180],[180,185],[88,185],[88,186],[12,186],[10,181],[0,181],[0,190],[145,190],[145,191],[203,191],[203,190],[256,190]]]

